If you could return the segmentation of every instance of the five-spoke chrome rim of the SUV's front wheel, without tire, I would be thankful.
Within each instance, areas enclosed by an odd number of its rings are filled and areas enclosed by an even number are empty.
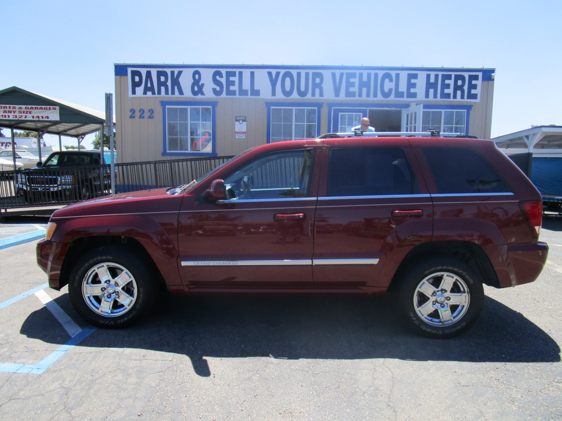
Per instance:
[[[106,317],[128,312],[137,300],[137,282],[117,263],[99,263],[82,281],[82,295],[88,307]]]

